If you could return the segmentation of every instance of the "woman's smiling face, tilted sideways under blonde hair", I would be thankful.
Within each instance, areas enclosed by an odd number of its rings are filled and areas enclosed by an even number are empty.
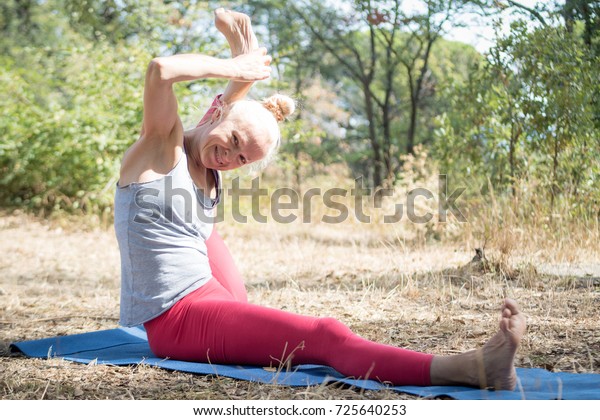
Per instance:
[[[262,105],[259,105],[262,107]],[[200,159],[209,169],[228,171],[264,158],[278,133],[261,112],[234,106],[200,141]],[[259,110],[261,111],[261,110]],[[268,111],[267,111],[268,112]]]

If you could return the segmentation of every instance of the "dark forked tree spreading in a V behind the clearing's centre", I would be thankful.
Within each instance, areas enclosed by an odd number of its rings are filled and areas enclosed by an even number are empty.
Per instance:
[[[398,146],[404,144],[404,151],[408,153],[414,148],[418,113],[427,95],[425,86],[430,75],[432,48],[462,4],[421,3],[424,11],[408,13],[401,7],[400,0],[363,0],[335,6],[316,1],[280,4],[293,12],[288,12],[291,21],[300,19],[302,26],[308,28],[312,48],[319,48],[332,57],[336,63],[335,77],[351,81],[360,92],[362,104],[357,111],[367,130],[375,185],[391,180],[400,167]],[[410,103],[404,140],[393,132],[404,96],[397,77],[401,69],[408,80],[406,96]],[[327,69],[322,66],[321,71],[324,70]]]

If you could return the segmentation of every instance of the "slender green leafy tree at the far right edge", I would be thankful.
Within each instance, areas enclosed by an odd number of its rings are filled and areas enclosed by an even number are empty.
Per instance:
[[[594,69],[600,60],[590,57],[581,38],[561,27],[526,33],[515,25],[506,42],[528,88],[523,111],[535,135],[527,146],[540,159],[550,209],[559,196],[576,197],[583,191],[597,195],[589,181],[592,167],[600,162],[600,133],[594,124]]]

